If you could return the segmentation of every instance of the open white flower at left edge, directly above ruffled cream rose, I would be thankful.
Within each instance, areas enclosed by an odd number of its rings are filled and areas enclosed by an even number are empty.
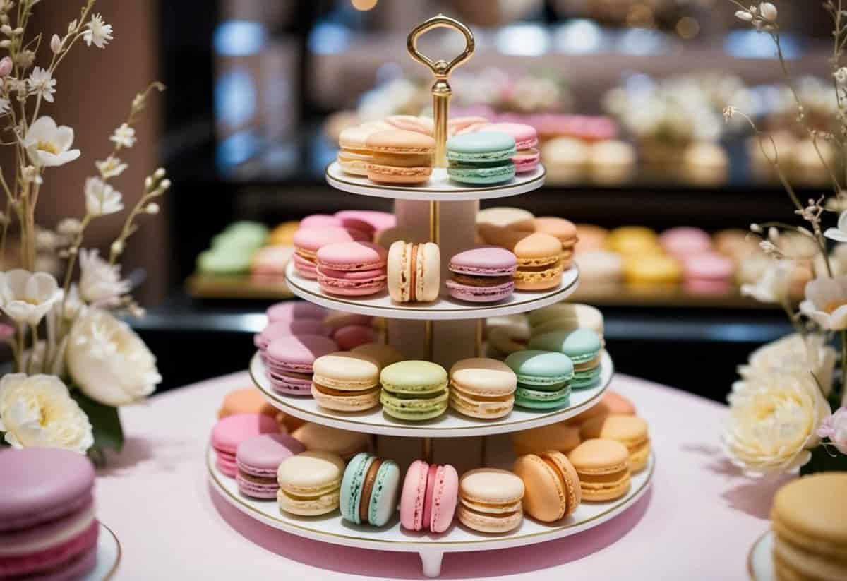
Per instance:
[[[0,273],[0,309],[18,323],[39,324],[62,295],[52,274],[20,268]]]

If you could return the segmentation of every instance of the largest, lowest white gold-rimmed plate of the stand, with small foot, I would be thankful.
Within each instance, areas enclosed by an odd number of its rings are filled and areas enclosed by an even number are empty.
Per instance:
[[[440,574],[441,556],[445,552],[488,551],[543,543],[581,533],[617,517],[649,489],[655,457],[650,454],[647,468],[633,475],[632,486],[622,498],[607,502],[584,502],[570,517],[557,523],[540,523],[524,517],[523,523],[507,534],[478,533],[457,520],[444,534],[413,533],[401,528],[397,515],[385,527],[374,528],[348,523],[337,510],[323,517],[297,517],[280,511],[276,501],[259,501],[241,495],[235,479],[225,476],[215,466],[215,454],[211,446],[207,451],[207,466],[208,478],[224,501],[257,521],[286,533],[324,543],[380,551],[418,552],[424,564],[424,573],[435,577]]]

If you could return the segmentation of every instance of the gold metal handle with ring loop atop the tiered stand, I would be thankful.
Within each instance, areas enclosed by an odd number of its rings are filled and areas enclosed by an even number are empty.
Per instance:
[[[446,60],[439,59],[433,61],[418,51],[418,36],[429,32],[435,28],[451,28],[458,30],[465,37],[465,49],[462,54],[453,58],[449,63]],[[429,67],[432,74],[435,75],[435,84],[432,86],[432,114],[435,121],[435,159],[434,165],[436,168],[447,167],[447,116],[450,108],[450,97],[452,89],[448,78],[453,69],[464,63],[473,55],[473,48],[476,43],[473,41],[473,33],[467,26],[463,25],[456,19],[451,19],[449,16],[439,14],[425,20],[421,24],[415,26],[412,32],[406,39],[406,49],[409,55],[418,63]]]

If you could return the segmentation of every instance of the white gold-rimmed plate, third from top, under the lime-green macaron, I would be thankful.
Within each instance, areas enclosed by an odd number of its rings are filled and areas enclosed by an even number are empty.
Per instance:
[[[584,412],[600,401],[609,383],[612,381],[614,365],[612,357],[606,351],[601,355],[601,377],[594,387],[585,390],[573,390],[567,407],[557,410],[528,410],[515,407],[506,418],[484,420],[468,418],[452,408],[447,412],[425,422],[404,422],[391,418],[382,412],[382,407],[374,407],[365,412],[335,412],[318,406],[318,402],[308,396],[288,396],[274,391],[265,374],[262,357],[256,353],[250,362],[250,375],[262,395],[274,407],[296,418],[321,423],[333,428],[348,429],[367,434],[407,436],[417,438],[447,438],[503,434],[522,429],[537,428],[548,423],[561,422]]]

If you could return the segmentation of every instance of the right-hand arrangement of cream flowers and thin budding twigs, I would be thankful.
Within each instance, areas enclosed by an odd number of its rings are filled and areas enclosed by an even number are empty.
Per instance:
[[[761,153],[777,174],[794,204],[800,224],[751,224],[750,235],[772,262],[754,285],[741,292],[761,302],[782,305],[795,333],[761,347],[739,368],[741,379],[729,395],[729,418],[722,442],[731,461],[754,476],[847,469],[847,273],[831,259],[833,243],[847,242],[847,67],[840,65],[847,45],[847,10],[842,0],[825,0],[833,18],[832,88],[837,103],[833,131],[816,129],[795,88],[783,58],[778,10],[773,3],[745,7],[730,0],[739,19],[772,38],[785,81],[794,99],[797,122],[820,158],[821,170],[832,190],[817,199],[800,202],[783,171],[776,141],[761,132],[748,115],[727,107],[725,119],[745,120],[756,133]],[[838,152],[836,166],[824,147]],[[843,172],[843,174],[841,174]],[[824,228],[830,213],[841,212],[838,224]],[[807,245],[786,244],[798,236]],[[792,249],[811,248],[797,254]],[[805,285],[805,297],[795,308],[789,301],[791,274],[799,263],[811,264],[815,278]],[[838,351],[835,346],[838,347]],[[840,369],[836,369],[839,358]],[[835,409],[836,412],[832,413]]]

